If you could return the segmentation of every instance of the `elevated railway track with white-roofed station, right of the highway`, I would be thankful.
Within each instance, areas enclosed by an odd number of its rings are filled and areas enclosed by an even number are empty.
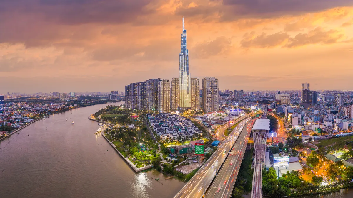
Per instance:
[[[266,139],[270,130],[270,120],[266,117],[267,106],[260,119],[257,119],[252,128],[254,140],[255,157],[253,159],[253,178],[251,198],[262,197],[262,167],[265,162]]]

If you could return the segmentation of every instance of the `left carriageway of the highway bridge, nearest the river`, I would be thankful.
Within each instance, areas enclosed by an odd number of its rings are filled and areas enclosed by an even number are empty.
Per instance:
[[[199,171],[189,182],[187,182],[174,198],[199,198],[203,196],[205,189],[211,184],[216,172],[219,171],[235,140],[238,138],[240,131],[248,120],[249,118],[241,121],[234,128],[226,140],[219,145],[214,154],[204,163],[201,169],[199,169]]]

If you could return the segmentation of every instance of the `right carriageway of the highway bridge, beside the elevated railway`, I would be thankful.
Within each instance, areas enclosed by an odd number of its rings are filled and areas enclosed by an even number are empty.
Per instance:
[[[248,119],[247,119],[248,120]],[[209,188],[206,198],[229,198],[232,195],[235,181],[241,162],[243,161],[247,141],[250,137],[250,132],[255,119],[247,122],[246,127],[241,130],[234,147],[223,164],[221,170],[216,176],[216,179]]]

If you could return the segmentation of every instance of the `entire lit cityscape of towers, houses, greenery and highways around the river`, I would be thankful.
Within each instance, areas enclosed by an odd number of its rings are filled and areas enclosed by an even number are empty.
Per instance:
[[[183,18],[179,78],[170,81],[110,93],[0,95],[0,140],[56,113],[108,104],[89,116],[101,127],[94,134],[135,172],[186,182],[175,197],[296,197],[351,186],[352,91],[307,82],[289,91],[220,90],[214,77],[191,78],[186,44]]]

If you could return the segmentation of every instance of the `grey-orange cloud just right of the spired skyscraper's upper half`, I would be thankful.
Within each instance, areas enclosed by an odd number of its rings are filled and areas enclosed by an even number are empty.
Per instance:
[[[225,54],[230,49],[231,40],[222,36],[213,41],[198,43],[190,51],[195,53],[196,58],[209,58],[210,56]]]

